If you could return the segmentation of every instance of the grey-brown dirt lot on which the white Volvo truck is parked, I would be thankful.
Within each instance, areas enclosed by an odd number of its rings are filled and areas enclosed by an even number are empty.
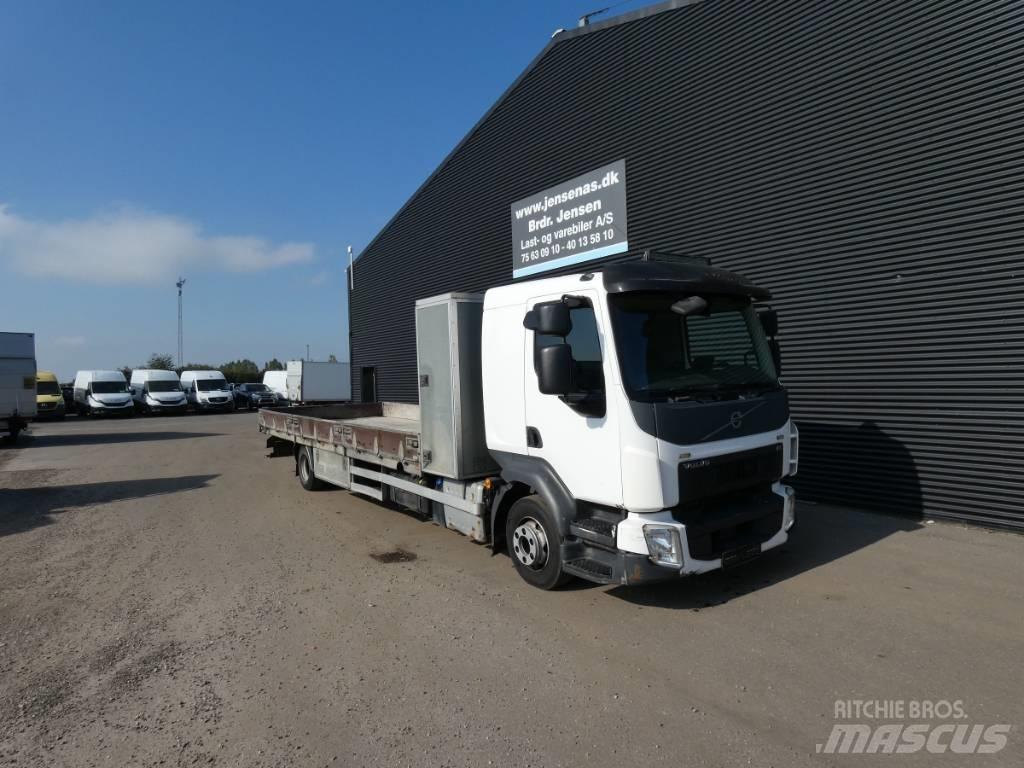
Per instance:
[[[1022,537],[805,505],[732,573],[544,593],[266,454],[243,414],[0,450],[0,765],[1022,763]],[[836,699],[1014,728],[839,759]]]

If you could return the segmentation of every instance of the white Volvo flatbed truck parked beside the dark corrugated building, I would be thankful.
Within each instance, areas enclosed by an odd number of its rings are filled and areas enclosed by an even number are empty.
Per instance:
[[[786,542],[798,430],[768,291],[645,259],[418,301],[419,404],[265,409],[329,482],[507,548],[520,575],[640,584]]]

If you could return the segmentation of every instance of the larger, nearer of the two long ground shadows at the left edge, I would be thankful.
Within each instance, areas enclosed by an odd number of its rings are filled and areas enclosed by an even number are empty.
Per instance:
[[[143,480],[85,482],[0,488],[0,538],[54,522],[54,515],[112,502],[145,499],[205,487],[219,475],[154,477]]]

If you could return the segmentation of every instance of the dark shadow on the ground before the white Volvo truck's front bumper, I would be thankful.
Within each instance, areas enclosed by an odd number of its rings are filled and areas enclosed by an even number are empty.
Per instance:
[[[921,527],[913,520],[896,515],[805,505],[785,545],[735,570],[717,570],[649,586],[614,587],[608,594],[649,607],[713,608],[826,565],[893,534]]]

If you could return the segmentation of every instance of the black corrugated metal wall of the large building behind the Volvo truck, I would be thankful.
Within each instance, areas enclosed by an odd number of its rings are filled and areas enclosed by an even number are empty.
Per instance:
[[[1024,525],[1024,4],[708,2],[546,50],[355,265],[354,386],[511,280],[509,205],[626,159],[630,243],[775,293],[805,497]]]

